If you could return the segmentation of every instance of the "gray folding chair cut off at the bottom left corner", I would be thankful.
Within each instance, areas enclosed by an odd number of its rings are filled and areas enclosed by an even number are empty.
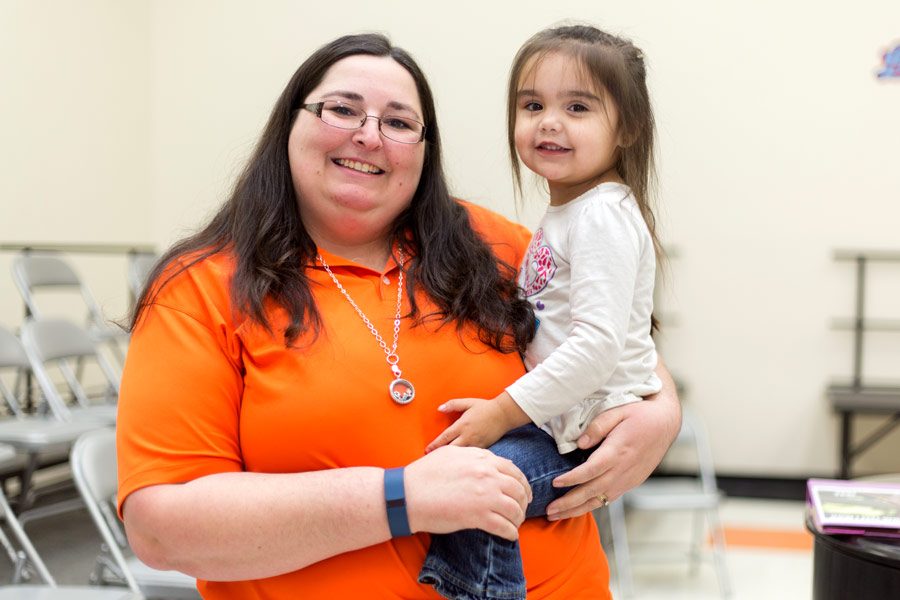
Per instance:
[[[15,450],[0,444],[0,462],[13,460]],[[0,545],[13,564],[13,579],[10,585],[0,585],[0,600],[140,600],[142,596],[122,589],[98,587],[59,587],[38,555],[34,544],[26,535],[6,496],[0,488],[0,518],[10,530],[12,538],[0,529]],[[24,584],[24,581],[40,579],[43,584]]]

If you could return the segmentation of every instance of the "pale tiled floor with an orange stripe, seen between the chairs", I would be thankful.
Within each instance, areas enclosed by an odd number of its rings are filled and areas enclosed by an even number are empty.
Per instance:
[[[803,503],[728,498],[721,516],[729,538],[727,565],[734,600],[806,600],[812,591],[811,536],[803,528]],[[601,519],[602,521],[602,519]],[[695,575],[683,557],[642,562],[641,550],[683,547],[689,517],[647,513],[627,517],[632,542],[636,600],[721,598],[715,570],[707,561]],[[86,584],[100,546],[84,510],[33,522],[27,527],[38,552],[60,583]],[[641,543],[643,542],[643,543]],[[0,581],[8,581],[8,561],[0,556]],[[612,562],[612,555],[610,554]],[[613,580],[613,592],[621,598]]]

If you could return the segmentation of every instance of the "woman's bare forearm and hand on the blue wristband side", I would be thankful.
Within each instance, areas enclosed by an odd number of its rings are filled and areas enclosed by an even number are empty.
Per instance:
[[[221,473],[132,493],[123,512],[141,560],[208,580],[272,577],[390,538],[384,471]],[[441,448],[406,468],[413,532],[478,528],[513,540],[531,492],[508,460]]]

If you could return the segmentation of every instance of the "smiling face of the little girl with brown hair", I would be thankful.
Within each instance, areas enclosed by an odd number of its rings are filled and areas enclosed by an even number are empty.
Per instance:
[[[565,53],[535,56],[525,65],[514,137],[522,162],[547,180],[552,205],[604,181],[621,181],[613,168],[621,145],[619,111]]]

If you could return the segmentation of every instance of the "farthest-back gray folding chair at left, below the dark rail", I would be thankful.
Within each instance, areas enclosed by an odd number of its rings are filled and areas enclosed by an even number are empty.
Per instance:
[[[80,295],[87,312],[86,326],[91,338],[98,345],[108,347],[118,366],[124,366],[123,347],[127,346],[128,334],[109,325],[94,294],[65,259],[58,255],[27,252],[13,259],[12,271],[16,288],[33,318],[52,316],[45,314],[38,306],[37,292],[53,290]]]

